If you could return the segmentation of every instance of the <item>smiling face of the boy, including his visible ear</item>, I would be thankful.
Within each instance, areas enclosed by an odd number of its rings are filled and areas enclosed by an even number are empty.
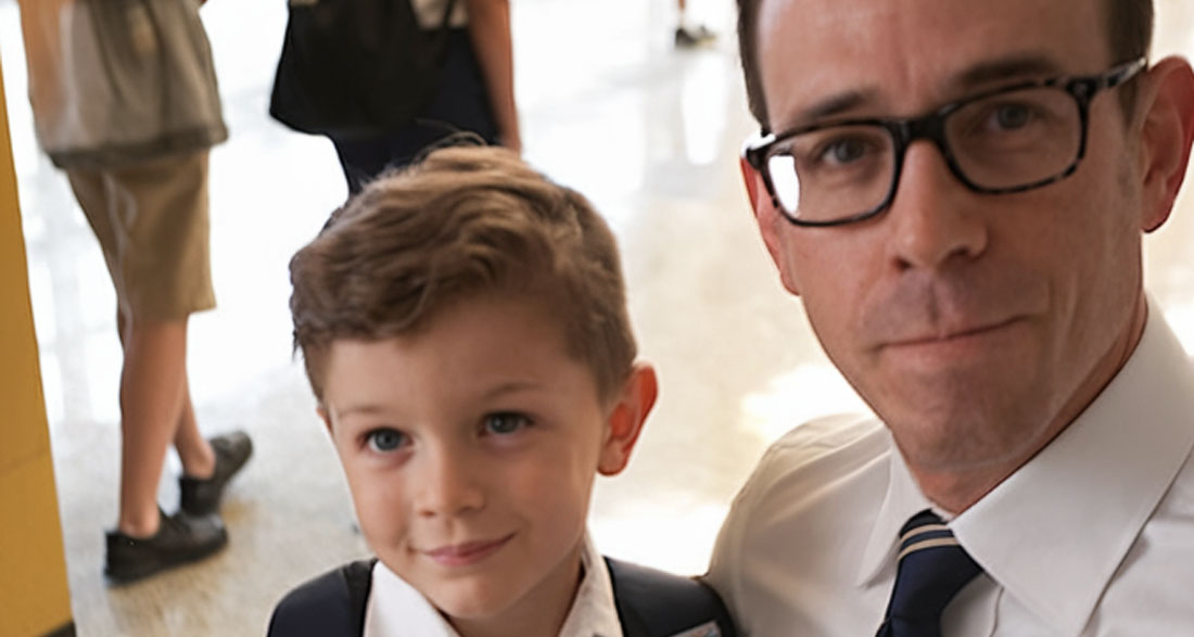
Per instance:
[[[639,367],[602,404],[550,314],[486,295],[336,341],[321,415],[369,545],[458,625],[571,604],[593,476],[626,465],[653,400]]]

